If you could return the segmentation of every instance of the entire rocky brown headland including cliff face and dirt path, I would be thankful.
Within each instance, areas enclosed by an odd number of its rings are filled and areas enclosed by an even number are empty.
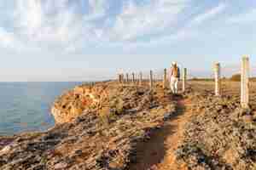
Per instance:
[[[55,127],[0,137],[0,169],[254,170],[256,83],[250,109],[239,82],[189,82],[179,96],[146,84],[81,85],[52,107]]]

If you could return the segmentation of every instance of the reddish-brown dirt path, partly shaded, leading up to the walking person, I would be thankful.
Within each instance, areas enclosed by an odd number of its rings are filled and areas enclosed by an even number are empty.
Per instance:
[[[177,113],[154,133],[148,143],[139,146],[137,163],[130,170],[186,170],[174,154],[183,139],[184,125],[192,114],[189,99],[177,98]]]

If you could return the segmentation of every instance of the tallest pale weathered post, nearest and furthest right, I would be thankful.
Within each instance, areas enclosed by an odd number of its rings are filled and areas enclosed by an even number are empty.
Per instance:
[[[249,107],[249,58],[246,55],[241,59],[241,107]]]

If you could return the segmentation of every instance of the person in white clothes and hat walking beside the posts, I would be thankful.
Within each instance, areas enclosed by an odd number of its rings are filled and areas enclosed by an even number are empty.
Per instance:
[[[177,83],[180,78],[180,71],[176,62],[172,62],[172,67],[170,71],[170,87],[172,94],[177,94]]]

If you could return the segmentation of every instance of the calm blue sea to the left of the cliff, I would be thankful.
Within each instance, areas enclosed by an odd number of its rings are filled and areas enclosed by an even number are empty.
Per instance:
[[[45,130],[54,125],[50,106],[81,82],[0,82],[0,135]]]

